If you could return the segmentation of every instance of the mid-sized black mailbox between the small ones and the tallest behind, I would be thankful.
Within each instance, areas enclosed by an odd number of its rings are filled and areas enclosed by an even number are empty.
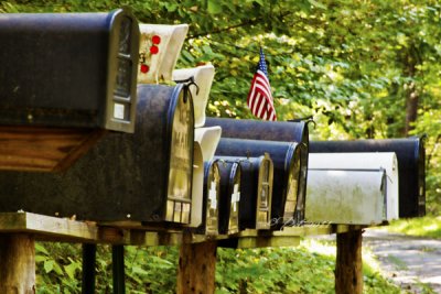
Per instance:
[[[268,153],[273,162],[271,218],[273,228],[304,220],[306,178],[301,173],[301,144],[265,140],[222,138],[216,155],[261,156]]]

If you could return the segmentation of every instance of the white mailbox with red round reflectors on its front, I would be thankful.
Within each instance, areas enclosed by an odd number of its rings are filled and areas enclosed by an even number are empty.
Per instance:
[[[139,84],[172,81],[172,73],[181,53],[189,24],[139,25]]]

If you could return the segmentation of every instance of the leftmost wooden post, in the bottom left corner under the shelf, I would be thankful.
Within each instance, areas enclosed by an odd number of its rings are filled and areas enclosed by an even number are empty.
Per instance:
[[[35,293],[35,247],[30,235],[0,235],[0,293]]]

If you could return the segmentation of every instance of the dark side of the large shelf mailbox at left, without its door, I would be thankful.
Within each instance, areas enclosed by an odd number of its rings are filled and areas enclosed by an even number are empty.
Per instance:
[[[169,109],[173,88],[155,89],[138,90],[133,134],[107,133],[65,173],[1,172],[0,211],[97,221],[163,220],[170,154],[169,121],[161,109]]]

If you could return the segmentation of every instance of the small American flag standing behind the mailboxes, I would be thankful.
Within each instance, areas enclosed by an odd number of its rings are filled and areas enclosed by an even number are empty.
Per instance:
[[[263,120],[277,120],[262,48],[260,48],[260,59],[255,76],[252,77],[247,104],[249,109],[251,109],[252,115],[256,117]]]

